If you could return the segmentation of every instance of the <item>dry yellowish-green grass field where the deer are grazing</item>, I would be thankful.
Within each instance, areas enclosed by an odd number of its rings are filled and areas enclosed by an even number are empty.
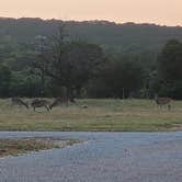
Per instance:
[[[83,109],[87,105],[88,109]],[[12,106],[0,100],[0,130],[76,132],[171,132],[182,129],[182,102],[173,101],[171,111],[158,109],[149,100],[78,100],[68,107]]]

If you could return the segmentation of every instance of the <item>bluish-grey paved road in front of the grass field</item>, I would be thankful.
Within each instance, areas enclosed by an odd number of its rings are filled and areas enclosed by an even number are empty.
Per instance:
[[[0,182],[181,182],[182,133],[0,133],[88,140],[0,159]]]

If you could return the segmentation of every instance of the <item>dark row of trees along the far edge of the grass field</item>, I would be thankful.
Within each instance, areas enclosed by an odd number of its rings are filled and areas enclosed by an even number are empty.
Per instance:
[[[170,39],[151,65],[145,62],[149,54],[105,52],[100,45],[72,41],[64,25],[54,36],[8,43],[0,47],[5,60],[0,64],[1,98],[182,99],[182,43],[177,39]]]

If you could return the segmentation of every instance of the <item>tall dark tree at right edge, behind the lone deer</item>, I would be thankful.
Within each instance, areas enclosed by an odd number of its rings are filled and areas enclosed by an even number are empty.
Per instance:
[[[158,58],[159,93],[182,99],[182,43],[169,41]]]

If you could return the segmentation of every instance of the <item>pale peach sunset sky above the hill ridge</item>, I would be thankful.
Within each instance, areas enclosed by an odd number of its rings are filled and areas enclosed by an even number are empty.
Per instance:
[[[0,16],[182,25],[182,0],[0,0]]]

